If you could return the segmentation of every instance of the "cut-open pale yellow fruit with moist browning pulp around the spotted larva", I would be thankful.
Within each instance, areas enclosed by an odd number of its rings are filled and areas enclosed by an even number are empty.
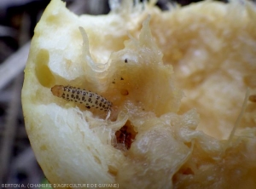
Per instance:
[[[247,87],[256,92],[254,5],[127,4],[77,16],[52,0],[35,29],[22,106],[49,182],[255,188],[255,103],[224,140]],[[55,85],[102,95],[110,117],[56,97]]]

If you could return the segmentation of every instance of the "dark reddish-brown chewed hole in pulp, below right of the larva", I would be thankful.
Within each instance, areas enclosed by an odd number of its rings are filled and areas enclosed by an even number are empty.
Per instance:
[[[129,150],[136,135],[136,129],[131,125],[130,121],[127,121],[121,129],[115,132],[116,144],[114,144],[114,147],[119,150]]]

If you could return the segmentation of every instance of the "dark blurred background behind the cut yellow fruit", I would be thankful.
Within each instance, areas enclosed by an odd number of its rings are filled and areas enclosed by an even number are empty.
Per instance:
[[[0,188],[47,183],[26,135],[20,103],[33,30],[50,0],[0,0]],[[195,2],[196,0],[194,0]],[[67,0],[76,14],[108,14],[108,0]],[[177,0],[186,5],[193,0]],[[157,6],[168,9],[170,0]],[[24,187],[23,187],[24,188]]]

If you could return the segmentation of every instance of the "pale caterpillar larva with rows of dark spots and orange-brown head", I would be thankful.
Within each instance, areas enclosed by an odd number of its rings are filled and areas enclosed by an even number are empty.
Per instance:
[[[101,95],[85,89],[55,85],[51,88],[51,92],[55,96],[61,97],[67,101],[74,101],[76,103],[83,104],[88,109],[90,109],[90,107],[94,107],[101,111],[109,111],[112,106],[112,103]]]

